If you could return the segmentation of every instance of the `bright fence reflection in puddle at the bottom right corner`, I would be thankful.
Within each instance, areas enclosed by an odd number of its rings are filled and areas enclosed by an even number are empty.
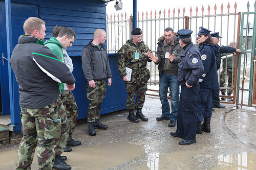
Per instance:
[[[256,154],[221,155],[217,163],[223,169],[256,169]]]

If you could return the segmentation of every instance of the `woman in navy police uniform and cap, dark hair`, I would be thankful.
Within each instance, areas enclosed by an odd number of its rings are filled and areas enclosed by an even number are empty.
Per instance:
[[[210,132],[210,118],[212,113],[211,92],[212,90],[219,89],[215,58],[215,52],[218,52],[218,48],[212,41],[210,30],[200,27],[196,35],[198,35],[199,51],[204,66],[204,74],[199,79],[200,90],[197,102],[197,134],[202,134],[202,131]],[[201,126],[202,122],[203,125]]]

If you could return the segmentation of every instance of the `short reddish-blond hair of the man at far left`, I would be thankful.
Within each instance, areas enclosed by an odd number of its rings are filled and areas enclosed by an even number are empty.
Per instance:
[[[37,17],[29,17],[23,25],[23,29],[26,35],[31,35],[35,30],[40,31],[42,25],[46,25],[46,22]]]

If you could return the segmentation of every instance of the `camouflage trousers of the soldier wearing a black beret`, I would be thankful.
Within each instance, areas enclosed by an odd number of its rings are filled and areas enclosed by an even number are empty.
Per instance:
[[[138,109],[143,108],[145,102],[145,95],[147,90],[147,83],[140,84],[138,86],[131,86],[125,84],[127,91],[126,108],[127,109]],[[135,105],[135,94],[137,92],[136,105]]]

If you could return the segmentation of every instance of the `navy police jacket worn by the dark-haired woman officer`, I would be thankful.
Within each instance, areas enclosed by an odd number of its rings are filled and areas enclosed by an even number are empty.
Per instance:
[[[206,44],[205,42],[200,44],[199,51],[204,66],[204,74],[199,79],[200,88],[219,89],[215,48],[216,45]]]

